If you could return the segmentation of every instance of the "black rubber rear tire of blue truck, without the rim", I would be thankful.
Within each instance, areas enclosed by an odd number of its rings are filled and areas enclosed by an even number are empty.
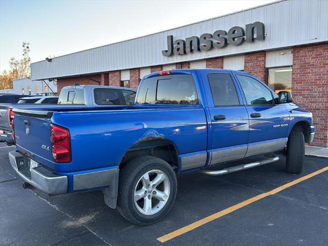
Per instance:
[[[142,214],[134,202],[134,191],[139,179],[151,170],[160,170],[169,180],[170,195],[164,207],[153,215]],[[177,180],[168,162],[154,156],[140,156],[128,162],[119,172],[117,210],[127,220],[140,226],[153,224],[171,210],[177,192]]]

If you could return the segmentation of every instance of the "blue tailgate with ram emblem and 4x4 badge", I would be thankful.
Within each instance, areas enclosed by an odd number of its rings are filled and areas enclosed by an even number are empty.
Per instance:
[[[14,132],[17,149],[23,149],[28,154],[32,154],[34,160],[44,165],[52,162],[50,140],[51,116],[45,113],[47,111],[22,109],[14,109],[13,111],[15,113]]]

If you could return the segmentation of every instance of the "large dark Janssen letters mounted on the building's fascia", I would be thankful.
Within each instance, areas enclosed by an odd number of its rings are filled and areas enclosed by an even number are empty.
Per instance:
[[[232,27],[228,33],[224,30],[217,30],[213,34],[203,33],[199,37],[187,37],[186,40],[173,40],[173,35],[167,36],[167,50],[162,50],[163,56],[183,55],[194,51],[207,51],[212,48],[221,49],[230,45],[241,45],[244,41],[247,43],[254,42],[256,29],[256,39],[265,39],[264,24],[261,22],[254,22],[247,24],[245,30],[242,27]]]

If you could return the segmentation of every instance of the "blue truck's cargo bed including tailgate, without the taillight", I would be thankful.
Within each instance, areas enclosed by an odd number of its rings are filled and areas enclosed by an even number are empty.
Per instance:
[[[32,155],[59,174],[117,166],[127,150],[149,139],[172,142],[179,148],[180,157],[199,150],[206,153],[207,121],[200,107],[110,106],[14,109],[14,112],[17,150]],[[47,150],[51,146],[51,124],[69,129],[72,148],[69,163],[53,162],[51,150]],[[190,136],[195,141],[189,141]]]

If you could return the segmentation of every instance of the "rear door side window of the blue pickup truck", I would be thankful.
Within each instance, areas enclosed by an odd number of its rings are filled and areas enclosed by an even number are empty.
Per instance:
[[[210,73],[208,75],[215,107],[239,105],[236,87],[228,73]]]

